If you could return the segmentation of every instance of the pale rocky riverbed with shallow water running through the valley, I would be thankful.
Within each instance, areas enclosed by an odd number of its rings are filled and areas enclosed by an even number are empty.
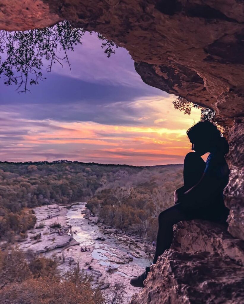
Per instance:
[[[153,248],[136,237],[97,224],[96,217],[85,218],[85,210],[86,203],[36,207],[36,228],[28,231],[27,239],[19,247],[55,259],[61,273],[79,263],[102,289],[109,290],[115,282],[124,283],[124,303],[128,303],[139,291],[129,280],[151,263],[148,251],[153,252]],[[52,227],[55,223],[57,227]],[[87,251],[81,251],[85,247]]]

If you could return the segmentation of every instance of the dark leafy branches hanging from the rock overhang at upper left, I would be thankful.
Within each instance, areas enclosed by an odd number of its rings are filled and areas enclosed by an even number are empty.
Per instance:
[[[55,63],[63,67],[63,61],[71,72],[67,51],[74,51],[77,44],[82,44],[84,34],[83,28],[73,28],[67,21],[24,32],[0,30],[0,54],[3,54],[0,56],[0,77],[3,77],[5,85],[17,85],[19,93],[26,93],[30,92],[29,85],[38,85],[39,81],[46,79],[42,73],[43,60],[49,61],[48,72]],[[105,48],[107,57],[115,53],[115,43],[101,34],[98,34],[98,39],[104,41],[101,48]]]

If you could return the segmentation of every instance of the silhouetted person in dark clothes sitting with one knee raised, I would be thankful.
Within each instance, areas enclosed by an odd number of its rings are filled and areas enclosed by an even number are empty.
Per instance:
[[[192,144],[184,160],[184,186],[174,192],[175,205],[159,214],[156,251],[153,264],[163,252],[170,248],[173,239],[173,225],[191,219],[206,219],[226,224],[229,209],[224,205],[223,190],[228,184],[229,168],[225,154],[229,145],[221,137],[217,127],[209,121],[200,121],[189,130],[187,136]],[[201,158],[210,152],[206,162]],[[146,271],[130,280],[135,287],[144,287]]]

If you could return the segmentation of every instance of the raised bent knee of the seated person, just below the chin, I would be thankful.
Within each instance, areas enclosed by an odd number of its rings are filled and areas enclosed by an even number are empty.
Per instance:
[[[205,166],[206,163],[196,152],[187,153],[184,159],[184,186],[187,190],[198,183]]]

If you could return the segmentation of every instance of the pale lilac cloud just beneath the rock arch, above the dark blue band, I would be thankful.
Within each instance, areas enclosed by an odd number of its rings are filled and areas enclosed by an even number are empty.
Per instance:
[[[128,51],[114,48],[115,54],[108,58],[101,45],[96,33],[86,33],[83,44],[76,46],[75,52],[68,52],[71,73],[59,64],[53,66],[53,72],[88,82],[145,88]]]

